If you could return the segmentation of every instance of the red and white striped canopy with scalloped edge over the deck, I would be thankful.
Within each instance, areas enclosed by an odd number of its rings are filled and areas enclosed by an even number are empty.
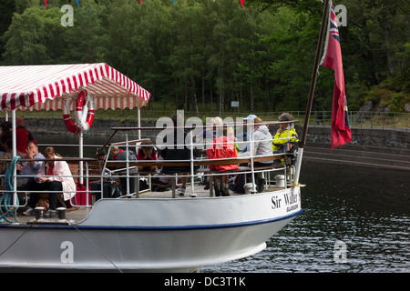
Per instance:
[[[139,108],[149,92],[107,64],[0,66],[0,110],[62,109],[65,95],[83,86],[94,108]]]

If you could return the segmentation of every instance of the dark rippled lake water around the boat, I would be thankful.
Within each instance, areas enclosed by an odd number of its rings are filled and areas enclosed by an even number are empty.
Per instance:
[[[36,136],[77,144],[77,136]],[[85,138],[101,145],[105,138]],[[56,146],[58,152],[58,146]],[[329,148],[330,150],[330,148]],[[77,148],[73,149],[77,156]],[[85,150],[92,156],[96,149]],[[301,216],[261,253],[203,273],[410,272],[410,172],[303,163]]]

